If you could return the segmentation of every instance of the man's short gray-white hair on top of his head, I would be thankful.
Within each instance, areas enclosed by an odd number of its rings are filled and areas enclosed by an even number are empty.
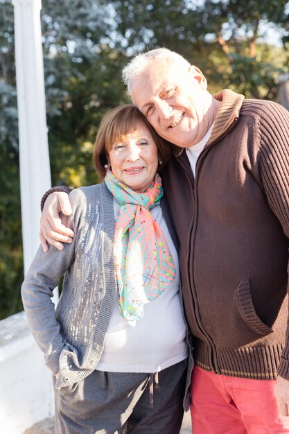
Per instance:
[[[145,69],[146,65],[150,60],[154,59],[166,59],[170,60],[172,63],[175,62],[179,66],[184,66],[185,68],[191,67],[191,64],[183,58],[182,55],[175,53],[175,51],[170,51],[169,49],[155,49],[151,51],[146,51],[145,53],[139,53],[130,60],[130,62],[123,68],[123,83],[128,87],[128,92],[131,93],[131,83],[134,78],[136,78]]]

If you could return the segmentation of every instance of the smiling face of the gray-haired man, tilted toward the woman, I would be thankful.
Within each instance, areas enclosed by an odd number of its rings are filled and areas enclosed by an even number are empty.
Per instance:
[[[187,148],[213,123],[213,98],[198,68],[150,60],[131,83],[132,99],[161,137]]]

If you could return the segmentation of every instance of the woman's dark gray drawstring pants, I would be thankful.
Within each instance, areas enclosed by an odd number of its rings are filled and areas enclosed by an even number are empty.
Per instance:
[[[186,367],[182,361],[159,372],[158,385],[152,385],[150,374],[94,371],[79,383],[54,389],[55,433],[179,433]]]

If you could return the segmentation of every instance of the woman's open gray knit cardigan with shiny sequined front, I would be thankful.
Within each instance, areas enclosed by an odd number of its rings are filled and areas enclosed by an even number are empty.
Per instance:
[[[102,183],[75,189],[69,198],[72,214],[62,216],[62,222],[73,229],[73,242],[65,243],[62,251],[51,246],[44,253],[40,247],[21,287],[30,330],[44,352],[46,365],[54,375],[58,373],[56,388],[76,383],[96,369],[117,294],[112,194]],[[177,245],[164,199],[161,209]],[[51,297],[62,275],[55,315]],[[181,290],[179,293],[182,302]],[[193,367],[189,332],[187,340],[190,357],[185,409]]]

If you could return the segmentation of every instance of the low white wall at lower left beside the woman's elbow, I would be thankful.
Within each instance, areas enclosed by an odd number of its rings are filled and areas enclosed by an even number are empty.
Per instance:
[[[54,413],[51,374],[25,313],[0,321],[0,433],[22,434]]]

